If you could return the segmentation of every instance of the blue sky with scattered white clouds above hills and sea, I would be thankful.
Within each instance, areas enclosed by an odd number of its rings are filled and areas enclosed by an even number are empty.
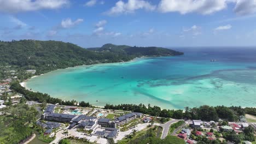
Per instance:
[[[256,0],[0,0],[0,40],[256,46]]]

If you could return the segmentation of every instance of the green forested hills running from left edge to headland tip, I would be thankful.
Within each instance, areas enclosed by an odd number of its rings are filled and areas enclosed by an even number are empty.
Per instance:
[[[113,45],[114,46],[114,45]],[[108,47],[109,45],[104,45]],[[0,41],[0,65],[18,65],[22,69],[36,69],[43,74],[59,68],[74,67],[83,64],[130,61],[137,56],[167,56],[179,52],[160,48],[141,48],[117,46],[119,51],[95,52],[62,41]],[[137,51],[137,52],[136,52]]]

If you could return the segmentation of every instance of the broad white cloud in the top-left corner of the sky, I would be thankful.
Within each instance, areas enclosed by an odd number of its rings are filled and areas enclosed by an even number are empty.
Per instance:
[[[57,9],[69,4],[68,0],[0,0],[0,11],[19,13],[39,9]]]

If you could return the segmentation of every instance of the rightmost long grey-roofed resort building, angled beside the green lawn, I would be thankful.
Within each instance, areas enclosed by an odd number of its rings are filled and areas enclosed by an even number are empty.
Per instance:
[[[117,125],[123,125],[126,123],[129,123],[130,121],[132,121],[133,119],[141,118],[142,113],[138,113],[138,112],[132,112],[132,113],[127,113],[124,116],[120,116],[118,118],[115,118],[115,123],[117,123]]]

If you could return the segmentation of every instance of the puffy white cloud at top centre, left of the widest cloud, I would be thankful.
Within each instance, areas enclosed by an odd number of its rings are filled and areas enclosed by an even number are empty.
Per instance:
[[[123,1],[118,1],[115,3],[115,6],[112,7],[109,11],[107,11],[108,15],[119,15],[119,14],[127,14],[134,13],[135,10],[145,9],[145,10],[155,10],[156,6],[150,4],[147,1],[143,0],[128,0],[127,3]]]

